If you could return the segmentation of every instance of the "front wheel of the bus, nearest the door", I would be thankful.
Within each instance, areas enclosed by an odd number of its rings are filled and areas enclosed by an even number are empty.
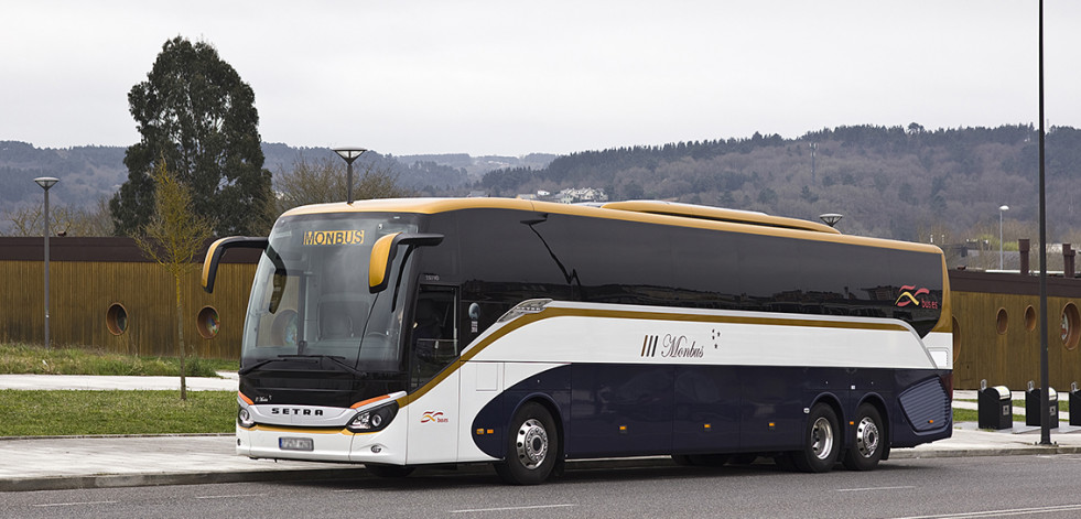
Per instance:
[[[559,431],[544,406],[527,402],[510,422],[507,455],[496,473],[512,485],[538,485],[548,479],[559,456]]]

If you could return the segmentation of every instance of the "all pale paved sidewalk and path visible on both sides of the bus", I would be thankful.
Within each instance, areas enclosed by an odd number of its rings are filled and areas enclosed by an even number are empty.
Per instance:
[[[34,376],[2,375],[0,389],[180,387],[179,379],[170,377],[121,377],[120,380],[117,380],[118,377],[46,380],[26,377]],[[129,378],[143,380],[127,380]],[[65,381],[72,386],[63,386]],[[188,378],[187,381],[190,388],[235,391],[237,387],[236,380],[229,378]],[[890,453],[890,459],[1081,454],[1081,428],[1066,425],[1066,422],[1051,430],[1053,445],[1037,445],[1039,440],[1039,428],[1016,425],[1013,430],[991,432],[976,429],[975,423],[964,422],[956,424],[953,437],[916,448],[895,450]],[[249,459],[235,454],[235,442],[231,434],[0,439],[0,491],[368,477],[361,465]],[[670,458],[656,456],[574,461],[567,463],[567,468],[671,464]],[[491,469],[488,465],[475,465],[464,471],[482,473]]]

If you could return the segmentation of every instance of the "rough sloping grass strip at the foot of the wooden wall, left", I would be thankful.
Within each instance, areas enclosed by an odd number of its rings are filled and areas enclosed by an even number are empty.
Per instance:
[[[188,357],[188,377],[216,377],[215,371],[236,371],[236,360]],[[179,357],[136,357],[88,348],[52,348],[28,344],[0,344],[0,374],[138,375],[180,377]]]

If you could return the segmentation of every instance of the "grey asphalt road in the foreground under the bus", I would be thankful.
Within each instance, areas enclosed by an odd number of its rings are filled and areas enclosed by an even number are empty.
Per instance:
[[[718,469],[569,472],[536,487],[495,474],[48,490],[3,495],[3,518],[977,518],[1081,516],[1081,455],[898,459],[871,473]]]

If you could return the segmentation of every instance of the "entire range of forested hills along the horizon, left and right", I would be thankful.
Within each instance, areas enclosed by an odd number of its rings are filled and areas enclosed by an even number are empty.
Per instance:
[[[1037,238],[1037,141],[1031,126],[929,131],[912,123],[840,127],[797,139],[756,133],[583,151],[554,160],[368,152],[357,165],[394,173],[403,187],[425,196],[599,187],[609,199],[673,199],[808,219],[841,213],[839,227],[847,234],[921,241],[933,235],[938,244],[997,244],[998,207],[1007,205],[1008,249],[1018,237]],[[332,153],[273,143],[264,143],[263,152],[272,173],[288,170],[298,158]],[[50,192],[54,204],[93,204],[111,196],[127,177],[123,153],[119,147],[54,150],[0,142],[0,204],[8,210],[40,204],[41,188],[32,179],[42,175],[62,179]],[[1081,242],[1081,131],[1052,128],[1047,159],[1049,238]],[[507,164],[518,166],[479,174]]]

